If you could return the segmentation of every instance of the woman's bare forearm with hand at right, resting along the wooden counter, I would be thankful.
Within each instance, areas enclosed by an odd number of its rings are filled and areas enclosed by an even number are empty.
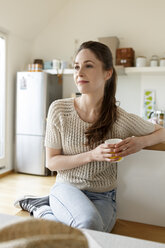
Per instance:
[[[155,131],[149,135],[140,137],[129,137],[115,145],[116,156],[125,157],[138,152],[144,147],[152,146],[165,141],[165,128],[155,125]]]

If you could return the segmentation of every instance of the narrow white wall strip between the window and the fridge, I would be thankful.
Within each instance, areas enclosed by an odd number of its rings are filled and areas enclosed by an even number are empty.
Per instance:
[[[14,34],[7,35],[7,167],[13,168],[14,164],[14,123],[15,123],[15,83],[16,72],[25,70],[31,57],[31,45],[29,42]]]

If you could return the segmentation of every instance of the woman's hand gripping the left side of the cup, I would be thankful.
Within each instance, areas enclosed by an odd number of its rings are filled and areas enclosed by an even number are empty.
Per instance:
[[[114,157],[114,149],[115,145],[113,144],[101,144],[97,146],[95,149],[91,150],[92,161],[117,161],[118,159],[111,159],[111,157]]]

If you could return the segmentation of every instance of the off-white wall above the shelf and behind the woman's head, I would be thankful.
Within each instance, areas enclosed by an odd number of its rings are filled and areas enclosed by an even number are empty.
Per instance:
[[[117,36],[120,47],[136,55],[165,53],[164,0],[71,0],[49,23],[33,46],[33,58],[70,60],[79,44],[98,37]],[[79,45],[78,44],[78,45]]]

